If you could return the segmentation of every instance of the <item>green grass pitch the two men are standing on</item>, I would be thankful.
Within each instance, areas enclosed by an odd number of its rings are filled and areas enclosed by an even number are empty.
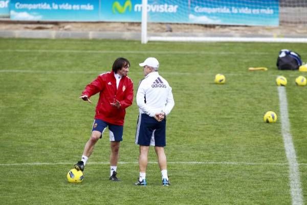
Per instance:
[[[80,39],[0,38],[0,204],[291,204],[289,165],[283,145],[277,75],[286,87],[302,195],[307,196],[307,87],[298,71],[278,71],[279,50],[307,61],[299,43],[183,43]],[[131,62],[129,77],[143,77],[138,63],[160,61],[173,89],[167,118],[170,187],[150,149],[147,187],[136,187],[139,148],[134,144],[138,108],[127,109],[118,165],[119,183],[108,180],[106,132],[86,165],[81,184],[67,172],[89,139],[93,104],[78,99],[117,57]],[[248,71],[248,67],[268,71]],[[226,84],[214,84],[215,74]],[[273,110],[279,119],[263,121]]]

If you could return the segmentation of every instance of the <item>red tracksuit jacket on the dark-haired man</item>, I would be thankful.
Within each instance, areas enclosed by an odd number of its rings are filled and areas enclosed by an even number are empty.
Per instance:
[[[103,73],[93,82],[86,85],[82,95],[87,95],[90,98],[98,92],[100,94],[96,106],[95,119],[115,125],[124,125],[125,109],[133,102],[133,81],[129,77],[124,76],[120,80],[117,89],[114,72]],[[114,102],[114,99],[120,102],[120,108],[110,104]]]

